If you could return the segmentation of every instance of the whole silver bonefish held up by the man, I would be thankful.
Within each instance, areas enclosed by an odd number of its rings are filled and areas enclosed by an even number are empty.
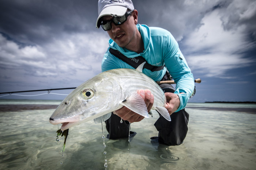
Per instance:
[[[140,89],[149,89],[154,95],[152,109],[157,110],[166,120],[171,121],[167,109],[166,97],[153,79],[142,73],[143,65],[137,69],[112,69],[87,80],[72,91],[50,116],[51,124],[62,124],[61,131],[89,120],[97,122],[107,120],[111,112],[125,106],[128,109],[148,117],[143,98],[137,93]]]

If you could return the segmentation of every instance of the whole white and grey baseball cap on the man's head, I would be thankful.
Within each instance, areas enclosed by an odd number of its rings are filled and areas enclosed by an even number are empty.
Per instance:
[[[131,0],[99,0],[98,1],[98,18],[96,21],[96,28],[101,24],[100,18],[105,15],[123,16],[125,12],[134,10]]]

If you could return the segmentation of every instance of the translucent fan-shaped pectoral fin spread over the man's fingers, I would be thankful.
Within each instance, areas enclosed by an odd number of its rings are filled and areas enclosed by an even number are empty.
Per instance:
[[[149,117],[146,103],[143,98],[137,93],[134,93],[130,97],[125,99],[123,102],[121,102],[121,105],[127,107],[135,113],[140,114],[141,116]]]

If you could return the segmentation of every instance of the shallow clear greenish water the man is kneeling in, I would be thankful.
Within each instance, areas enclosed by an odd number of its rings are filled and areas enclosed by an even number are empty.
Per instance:
[[[8,102],[1,100],[0,105],[60,103]],[[0,169],[255,169],[256,114],[249,114],[252,110],[241,112],[239,108],[255,109],[256,105],[189,103],[187,106],[189,131],[180,146],[151,143],[150,137],[158,136],[154,127],[158,114],[153,112],[154,117],[131,124],[131,131],[137,135],[130,143],[128,139],[105,138],[105,148],[101,124],[89,121],[75,126],[69,129],[64,156],[61,153],[64,137],[57,142],[57,125],[48,121],[54,109],[0,112]],[[106,136],[105,127],[103,131]],[[104,167],[105,159],[108,167]]]

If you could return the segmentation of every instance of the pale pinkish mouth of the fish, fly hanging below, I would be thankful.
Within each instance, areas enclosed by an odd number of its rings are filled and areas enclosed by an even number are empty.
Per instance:
[[[59,120],[56,120],[52,117],[50,117],[49,122],[53,125],[62,124],[61,125],[61,131],[65,131],[68,128],[71,128],[72,126],[76,125],[80,121],[79,115],[71,118],[62,118]]]

